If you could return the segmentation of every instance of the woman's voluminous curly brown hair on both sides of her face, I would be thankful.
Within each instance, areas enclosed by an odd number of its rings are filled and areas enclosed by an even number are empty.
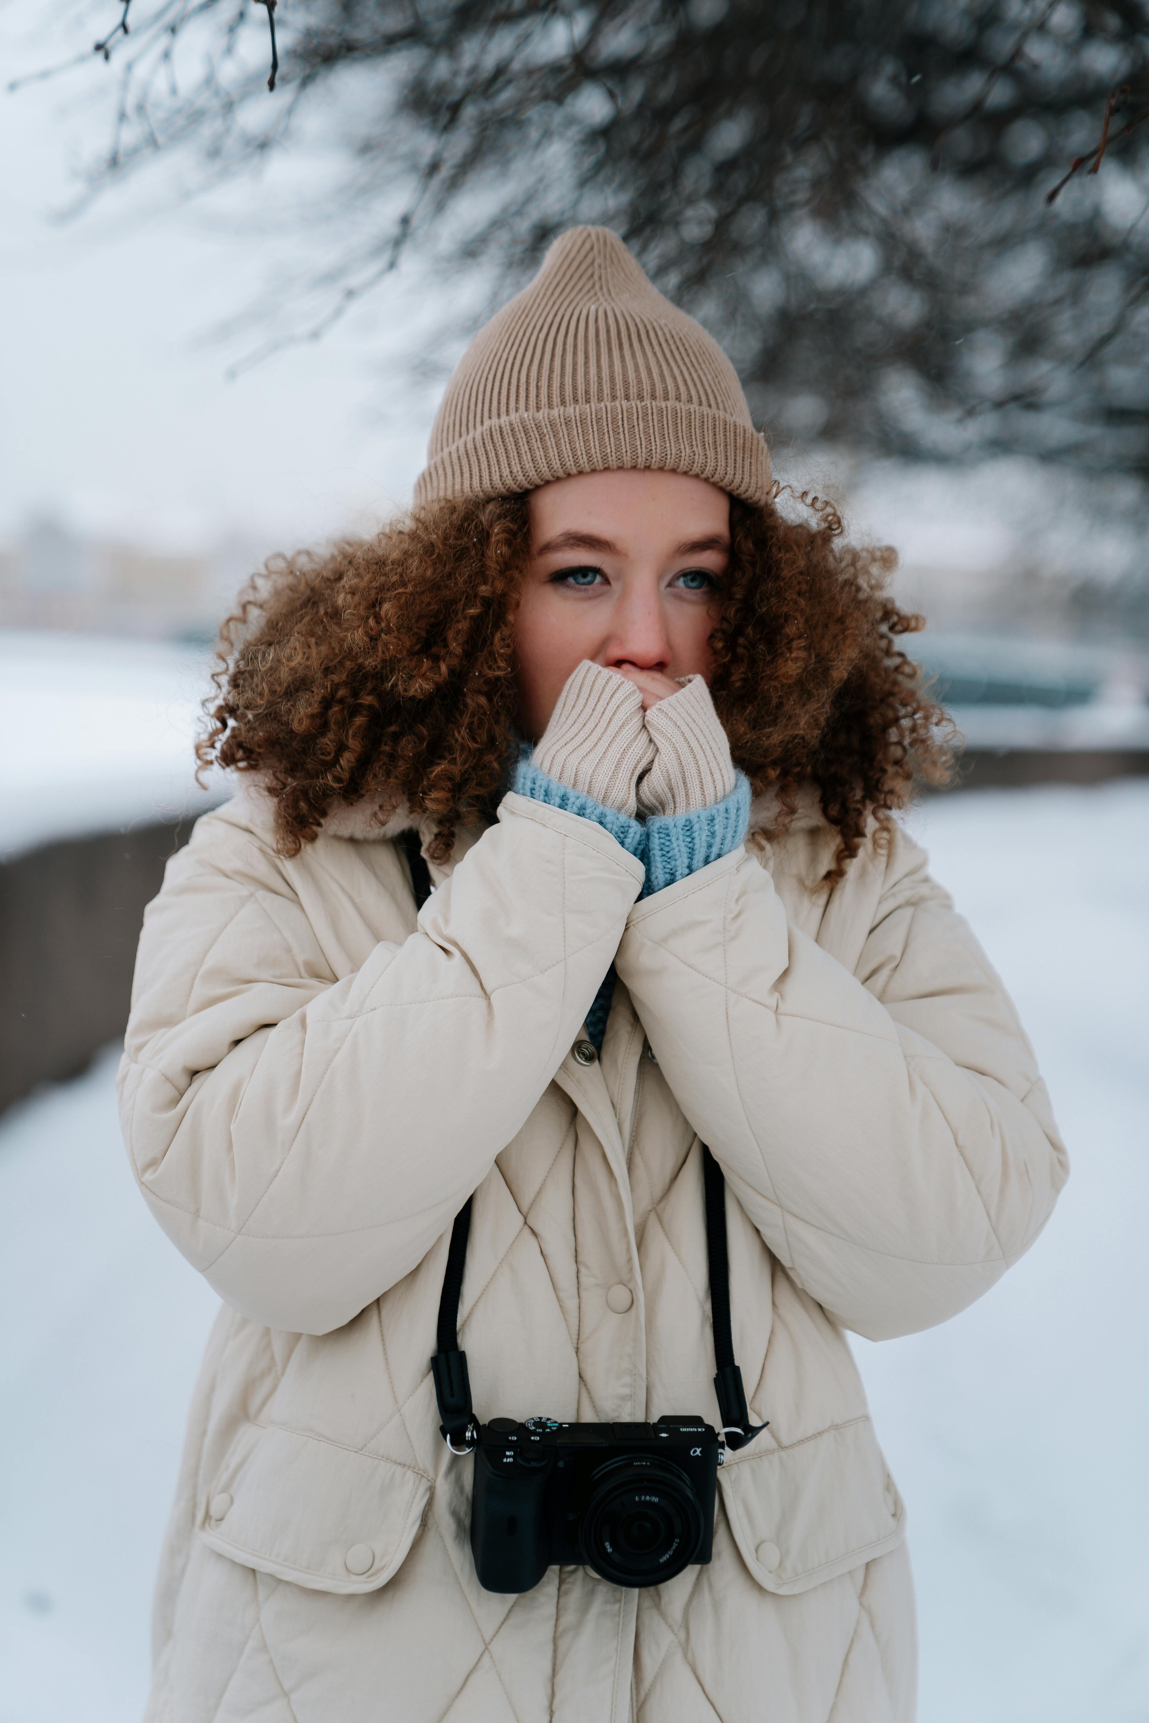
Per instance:
[[[813,784],[841,843],[889,829],[915,772],[951,770],[944,715],[897,638],[922,627],[885,593],[892,551],[842,543],[818,498],[730,505],[730,563],[711,636],[711,693],[755,793],[780,824]],[[792,495],[792,493],[791,493]],[[527,498],[444,501],[324,555],[272,558],[220,631],[202,767],[258,770],[284,855],[332,803],[434,817],[446,860],[489,818],[515,755],[515,610],[531,553]]]

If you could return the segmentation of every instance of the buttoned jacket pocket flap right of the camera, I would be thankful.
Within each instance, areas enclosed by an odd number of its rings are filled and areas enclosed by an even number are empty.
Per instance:
[[[732,1458],[718,1482],[734,1540],[768,1592],[806,1592],[904,1537],[904,1504],[870,1418]]]

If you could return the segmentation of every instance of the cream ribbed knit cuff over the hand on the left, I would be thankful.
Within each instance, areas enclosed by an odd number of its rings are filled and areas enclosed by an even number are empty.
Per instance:
[[[567,677],[534,750],[539,772],[634,818],[636,786],[653,758],[641,691],[629,677],[584,658]]]

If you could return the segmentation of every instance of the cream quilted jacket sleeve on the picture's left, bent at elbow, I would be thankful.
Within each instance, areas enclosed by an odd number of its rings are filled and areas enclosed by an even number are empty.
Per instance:
[[[121,1115],[220,1297],[326,1334],[408,1273],[555,1075],[641,884],[599,827],[512,794],[417,932],[332,984],[270,849],[193,841],[145,920]]]

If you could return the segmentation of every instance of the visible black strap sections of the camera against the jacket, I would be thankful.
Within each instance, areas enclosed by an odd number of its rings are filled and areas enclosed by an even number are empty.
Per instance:
[[[398,846],[407,856],[412,875],[415,908],[422,910],[431,896],[431,870],[422,855],[419,832],[400,832]],[[727,1251],[727,1208],[725,1179],[717,1160],[703,1142],[703,1189],[706,1196],[706,1261],[710,1268],[710,1320],[715,1334],[715,1394],[718,1396],[718,1415],[727,1447],[744,1447],[746,1442],[765,1430],[765,1423],[751,1425],[742,1372],[734,1361],[734,1334],[730,1330],[730,1258]],[[458,1349],[458,1301],[463,1291],[463,1268],[467,1266],[467,1239],[470,1237],[470,1204],[467,1197],[455,1225],[451,1242],[446,1251],[446,1272],[443,1275],[443,1294],[439,1297],[439,1323],[436,1330],[436,1354],[431,1359],[434,1377],[434,1397],[439,1403],[439,1430],[444,1442],[456,1452],[465,1451],[467,1432],[474,1423],[470,1403],[470,1377],[467,1375],[467,1353]],[[460,1444],[455,1449],[455,1444]]]

